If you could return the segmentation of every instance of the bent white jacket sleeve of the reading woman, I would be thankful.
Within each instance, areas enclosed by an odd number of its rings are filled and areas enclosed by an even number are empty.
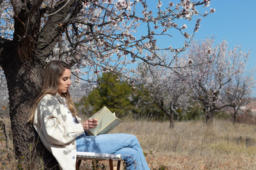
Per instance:
[[[77,136],[84,133],[81,124],[65,124],[68,115],[61,114],[59,101],[54,96],[45,96],[38,104],[41,131],[48,143],[52,145],[65,145],[74,141]],[[60,124],[60,118],[63,119]]]

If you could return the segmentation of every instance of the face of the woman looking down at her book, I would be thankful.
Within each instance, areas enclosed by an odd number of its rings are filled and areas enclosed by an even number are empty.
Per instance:
[[[70,76],[70,69],[65,69],[59,80],[58,94],[67,93],[68,87],[71,85]]]

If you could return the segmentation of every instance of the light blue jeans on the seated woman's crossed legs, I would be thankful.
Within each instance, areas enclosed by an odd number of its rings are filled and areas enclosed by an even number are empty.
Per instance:
[[[76,150],[121,154],[127,170],[149,169],[138,139],[131,134],[100,134],[98,136],[82,134],[76,138]]]

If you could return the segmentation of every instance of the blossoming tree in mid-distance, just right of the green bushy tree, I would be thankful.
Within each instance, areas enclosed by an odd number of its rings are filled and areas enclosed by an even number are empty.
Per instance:
[[[170,127],[174,127],[175,114],[186,114],[191,103],[188,84],[180,73],[179,62],[173,63],[173,69],[156,66],[148,69],[141,64],[138,81],[148,90],[152,101],[169,117]],[[180,73],[179,73],[180,72]]]

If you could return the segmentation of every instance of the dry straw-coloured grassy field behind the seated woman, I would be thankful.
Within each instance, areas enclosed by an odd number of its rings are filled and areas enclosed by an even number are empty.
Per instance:
[[[256,125],[214,120],[206,127],[203,122],[189,121],[175,122],[175,129],[170,129],[168,122],[124,121],[111,132],[136,135],[150,169],[256,169]],[[4,141],[0,145],[6,150]],[[3,166],[4,154],[0,169],[12,169]],[[84,161],[81,169],[90,165]]]

